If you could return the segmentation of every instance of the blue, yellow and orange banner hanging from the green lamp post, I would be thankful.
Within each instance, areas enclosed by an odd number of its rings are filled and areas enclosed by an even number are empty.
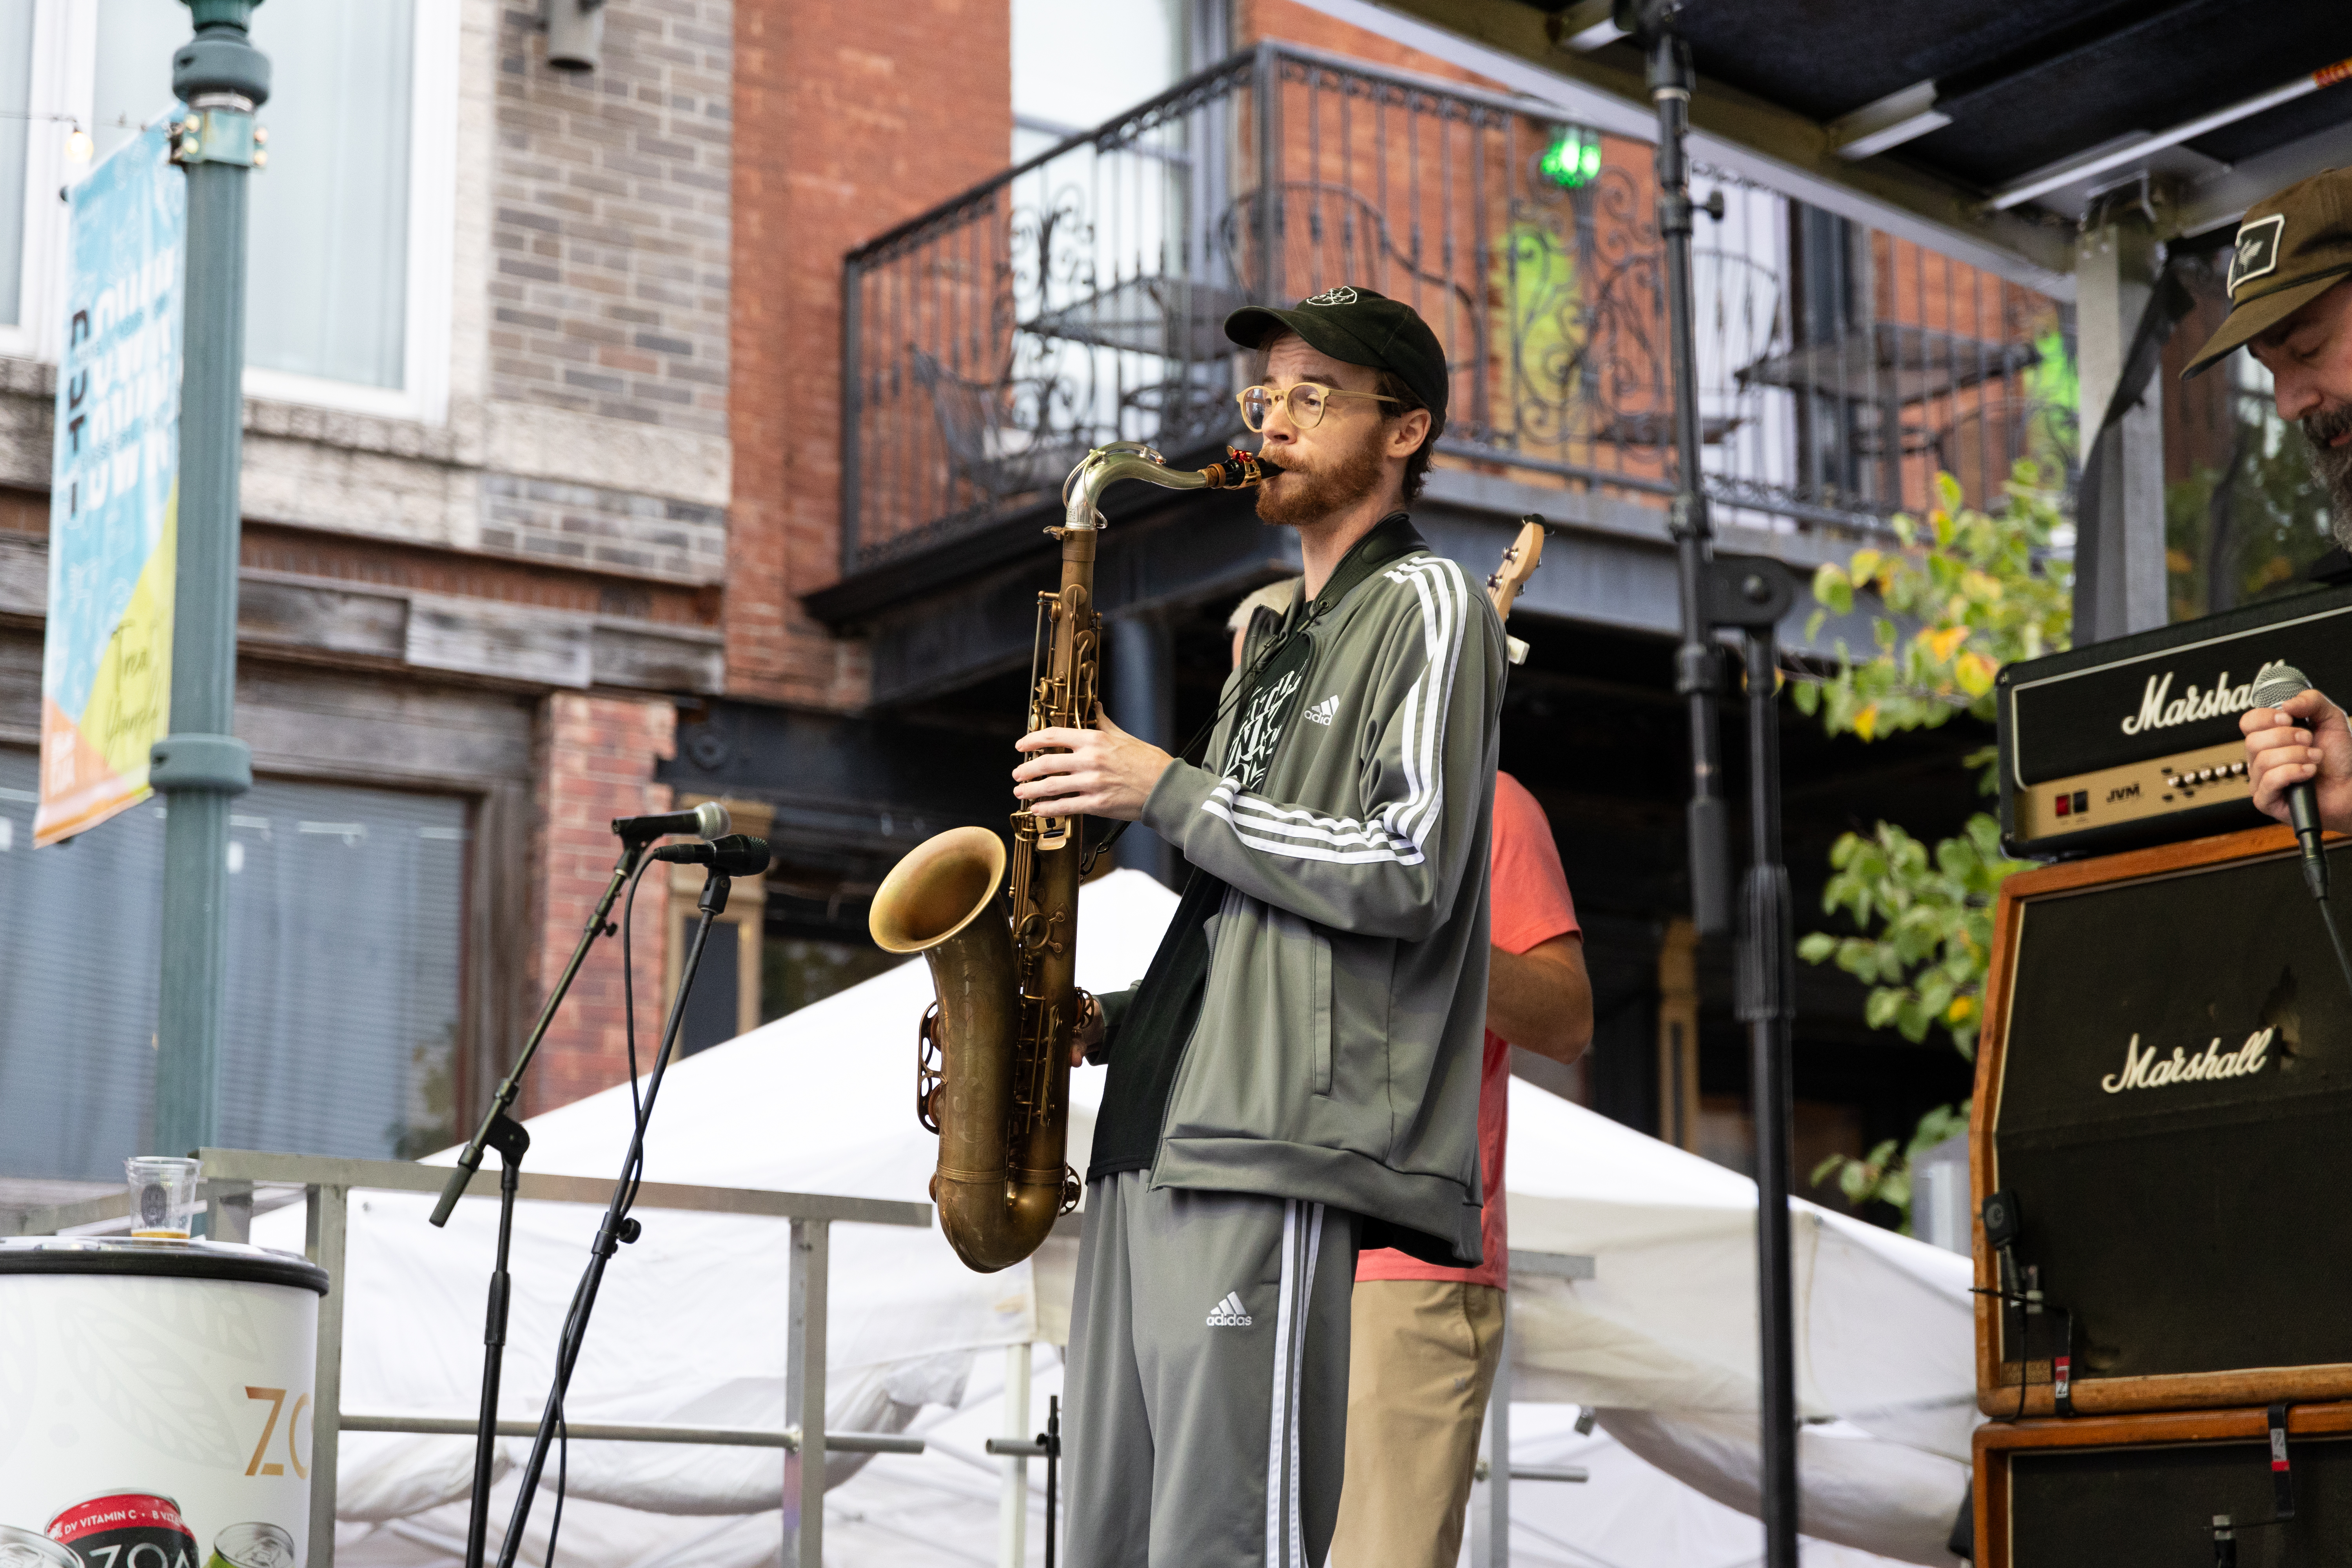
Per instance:
[[[188,181],[148,127],[73,190],[33,844],[148,797],[172,724]]]

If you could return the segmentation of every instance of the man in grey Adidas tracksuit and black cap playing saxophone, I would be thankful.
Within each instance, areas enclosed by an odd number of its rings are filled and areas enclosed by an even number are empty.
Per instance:
[[[1070,1314],[1073,1568],[1308,1568],[1338,1514],[1359,1248],[1479,1251],[1477,1100],[1503,625],[1414,531],[1446,364],[1409,306],[1244,308],[1240,395],[1301,592],[1244,646],[1207,766],[1108,717],[1014,792],[1188,865],[1108,1060]]]

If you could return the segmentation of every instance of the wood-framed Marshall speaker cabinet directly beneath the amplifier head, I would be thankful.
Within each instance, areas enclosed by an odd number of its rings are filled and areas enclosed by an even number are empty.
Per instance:
[[[2286,827],[2011,877],[1969,1133],[1985,1415],[2352,1399],[2352,997]]]

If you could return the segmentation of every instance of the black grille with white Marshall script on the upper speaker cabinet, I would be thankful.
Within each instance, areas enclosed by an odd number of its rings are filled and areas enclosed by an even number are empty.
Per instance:
[[[2352,856],[2331,867],[2352,905]],[[2352,997],[2296,860],[2018,919],[1994,1182],[2018,1194],[2018,1260],[2074,1312],[2077,1378],[2352,1361],[2333,1307],[2352,1298]],[[2002,1354],[2020,1354],[2013,1314]]]

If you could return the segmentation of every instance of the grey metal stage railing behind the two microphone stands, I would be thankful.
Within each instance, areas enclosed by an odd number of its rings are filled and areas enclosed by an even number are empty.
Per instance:
[[[327,1269],[332,1288],[318,1312],[318,1382],[313,1408],[320,1420],[310,1436],[310,1544],[303,1563],[334,1568],[334,1486],[336,1450],[343,1432],[428,1432],[473,1434],[470,1415],[381,1415],[343,1410],[343,1237],[353,1192],[440,1192],[447,1166],[419,1166],[395,1159],[327,1159],[315,1154],[261,1154],[254,1150],[198,1150],[205,1161],[202,1197],[212,1215],[212,1234],[221,1241],[247,1241],[256,1208],[273,1208],[266,1190],[294,1190],[285,1201],[306,1206],[303,1253]],[[468,1197],[496,1197],[496,1171],[477,1171]],[[296,1197],[299,1194],[299,1197]],[[612,1199],[612,1180],[593,1175],[524,1173],[517,1197],[548,1204],[593,1204]],[[677,1427],[569,1422],[574,1441],[623,1443],[708,1443],[715,1448],[783,1448],[800,1453],[800,1507],[786,1507],[783,1563],[823,1563],[823,1486],[826,1450],[842,1453],[922,1453],[922,1439],[887,1432],[826,1432],[826,1265],[833,1225],[931,1225],[929,1204],[887,1199],[823,1197],[811,1192],[764,1192],[757,1187],[684,1187],[644,1182],[642,1208],[682,1208],[694,1213],[741,1213],[790,1220],[793,1262],[786,1302],[786,1392],[779,1429]],[[14,1222],[14,1234],[47,1237],[129,1218],[129,1194],[111,1192],[80,1204],[40,1208]],[[532,1436],[539,1422],[501,1420],[501,1436]],[[802,1434],[814,1434],[802,1439]],[[783,1500],[790,1505],[790,1500]],[[797,1514],[797,1519],[795,1519]]]

